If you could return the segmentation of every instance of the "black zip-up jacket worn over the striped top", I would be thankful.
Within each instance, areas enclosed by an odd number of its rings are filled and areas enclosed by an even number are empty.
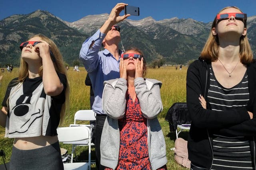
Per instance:
[[[210,64],[199,58],[188,67],[187,71],[187,105],[192,120],[188,135],[188,158],[193,165],[210,169],[213,162],[212,137],[209,131],[218,130],[227,136],[250,136],[251,153],[255,159],[256,136],[256,62],[247,65],[249,102],[246,107],[229,111],[210,110],[207,94],[210,87]],[[204,96],[207,109],[199,101]],[[253,113],[253,119],[247,111]],[[256,168],[256,167],[255,167]]]

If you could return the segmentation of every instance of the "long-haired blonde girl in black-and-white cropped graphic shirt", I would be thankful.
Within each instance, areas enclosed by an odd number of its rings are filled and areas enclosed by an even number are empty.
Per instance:
[[[14,138],[10,169],[62,170],[56,128],[69,100],[62,55],[42,34],[20,49],[19,76],[8,85],[0,113],[5,137]]]

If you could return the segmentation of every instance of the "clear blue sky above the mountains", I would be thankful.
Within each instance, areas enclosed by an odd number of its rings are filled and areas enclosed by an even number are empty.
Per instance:
[[[248,17],[256,16],[256,0],[0,0],[0,20],[40,9],[73,22],[88,15],[109,14],[118,2],[140,7],[140,16],[131,16],[128,18],[131,20],[141,20],[148,16],[157,21],[178,17],[207,23],[226,6],[237,6]]]

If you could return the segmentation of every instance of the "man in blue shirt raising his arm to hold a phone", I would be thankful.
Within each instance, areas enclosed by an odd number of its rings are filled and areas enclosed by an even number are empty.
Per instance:
[[[90,76],[94,91],[95,98],[92,109],[96,113],[96,125],[92,138],[96,151],[96,167],[100,170],[104,169],[103,166],[100,166],[100,139],[106,119],[106,114],[102,110],[103,82],[120,77],[119,58],[122,51],[118,48],[118,44],[121,37],[120,27],[115,24],[130,16],[130,14],[119,15],[126,5],[128,4],[116,4],[102,27],[92,37],[84,41],[79,55]],[[104,47],[103,51],[100,51],[101,45]]]

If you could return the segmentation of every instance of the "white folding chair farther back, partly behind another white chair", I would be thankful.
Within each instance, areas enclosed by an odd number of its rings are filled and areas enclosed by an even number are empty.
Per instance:
[[[92,134],[92,128],[94,127],[94,125],[91,124],[76,124],[76,121],[95,121],[96,117],[95,117],[95,113],[93,110],[78,110],[75,115],[74,115],[74,124],[71,124],[70,127],[72,126],[86,126],[88,128],[90,128],[90,134]],[[92,143],[92,141],[90,140],[90,145],[89,144],[89,140],[84,140],[84,141],[80,141],[80,143],[76,143],[76,144],[72,144],[72,151],[74,152],[75,158],[76,158],[76,147],[77,146],[89,146],[88,152],[89,152],[89,157],[88,157],[88,162],[90,162],[90,164],[95,164],[95,160],[92,161],[91,160],[91,146],[94,145],[94,143]],[[72,153],[73,153],[72,152]]]

